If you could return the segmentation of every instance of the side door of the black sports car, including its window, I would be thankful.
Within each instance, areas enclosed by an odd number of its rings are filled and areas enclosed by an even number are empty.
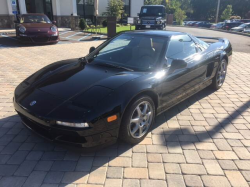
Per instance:
[[[204,80],[206,67],[201,64],[200,50],[188,35],[172,36],[166,51],[166,76],[161,82],[161,108],[165,110],[191,94]],[[175,60],[182,60],[186,67],[171,70]]]

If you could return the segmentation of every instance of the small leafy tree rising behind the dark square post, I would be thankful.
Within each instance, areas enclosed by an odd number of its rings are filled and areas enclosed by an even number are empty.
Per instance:
[[[121,14],[124,12],[123,8],[124,2],[122,0],[110,0],[108,2],[107,12],[103,13],[103,15],[121,18]]]

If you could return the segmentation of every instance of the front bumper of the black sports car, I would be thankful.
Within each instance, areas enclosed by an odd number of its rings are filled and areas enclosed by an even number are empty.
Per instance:
[[[50,125],[46,119],[28,113],[15,101],[14,107],[27,128],[51,142],[60,143],[67,147],[86,148],[88,151],[92,151],[113,144],[118,138],[119,120],[114,125],[115,128],[103,128],[103,130],[97,130],[94,133],[93,128],[65,128]],[[101,121],[96,123],[99,123],[99,128],[102,126],[102,124],[100,125]]]

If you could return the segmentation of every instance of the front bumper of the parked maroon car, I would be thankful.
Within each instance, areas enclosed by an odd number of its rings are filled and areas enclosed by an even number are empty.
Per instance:
[[[53,44],[59,42],[59,36],[52,35],[19,35],[18,39],[20,42],[27,44]]]

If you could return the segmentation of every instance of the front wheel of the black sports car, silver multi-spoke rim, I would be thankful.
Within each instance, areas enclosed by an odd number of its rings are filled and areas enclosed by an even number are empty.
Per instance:
[[[141,142],[155,119],[155,105],[148,96],[141,96],[129,104],[122,118],[119,138],[129,144]]]

